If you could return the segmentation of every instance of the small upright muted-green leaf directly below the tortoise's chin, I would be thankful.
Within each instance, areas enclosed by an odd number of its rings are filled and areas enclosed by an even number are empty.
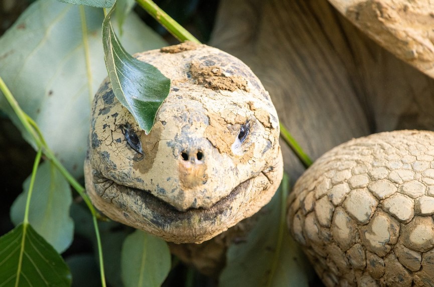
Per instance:
[[[121,271],[125,287],[161,286],[170,271],[166,241],[141,230],[126,237],[122,246]]]

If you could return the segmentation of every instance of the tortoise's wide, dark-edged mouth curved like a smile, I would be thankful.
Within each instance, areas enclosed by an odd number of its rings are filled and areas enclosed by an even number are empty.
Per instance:
[[[96,190],[99,190],[97,193],[105,201],[111,202],[117,208],[127,213],[134,210],[134,212],[146,218],[147,221],[149,220],[153,225],[166,229],[165,227],[173,226],[177,222],[195,220],[212,224],[218,220],[217,218],[226,217],[229,215],[228,213],[232,213],[233,201],[251,190],[255,178],[251,177],[241,182],[228,195],[209,208],[190,207],[185,211],[176,209],[173,205],[153,195],[150,190],[122,185],[111,179],[98,177],[96,174],[94,174],[94,186]],[[134,206],[126,206],[122,200],[125,197],[131,198]]]

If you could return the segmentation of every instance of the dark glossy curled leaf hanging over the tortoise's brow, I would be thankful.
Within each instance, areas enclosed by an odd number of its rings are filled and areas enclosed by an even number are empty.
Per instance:
[[[123,49],[110,24],[114,10],[115,5],[102,24],[105,65],[116,98],[148,134],[158,109],[169,95],[170,79],[156,67],[133,58]]]

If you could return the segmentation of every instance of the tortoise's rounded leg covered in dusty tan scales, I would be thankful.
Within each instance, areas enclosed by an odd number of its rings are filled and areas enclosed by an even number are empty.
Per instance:
[[[288,198],[287,222],[326,286],[434,285],[434,132],[351,140]]]

